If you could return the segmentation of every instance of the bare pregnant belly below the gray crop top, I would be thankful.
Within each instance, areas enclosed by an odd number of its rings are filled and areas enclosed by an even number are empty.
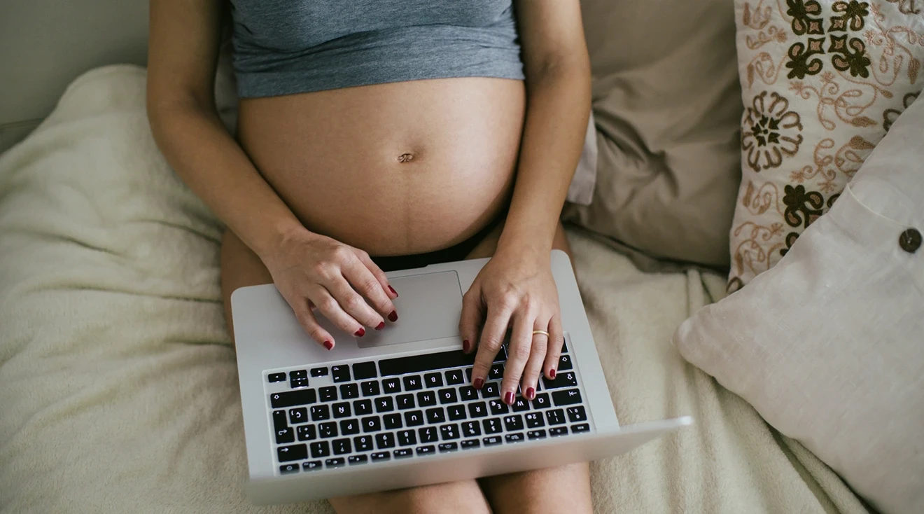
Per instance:
[[[310,230],[421,253],[503,212],[525,98],[517,80],[464,78],[244,99],[237,137]]]

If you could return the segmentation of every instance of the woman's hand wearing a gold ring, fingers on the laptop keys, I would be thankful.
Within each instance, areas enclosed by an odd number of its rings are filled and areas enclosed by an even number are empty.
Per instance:
[[[564,342],[551,252],[541,253],[498,249],[462,297],[459,334],[466,353],[478,349],[471,373],[476,389],[487,381],[507,326],[512,328],[501,385],[501,398],[508,405],[514,403],[517,385],[531,400],[542,373],[555,377]]]

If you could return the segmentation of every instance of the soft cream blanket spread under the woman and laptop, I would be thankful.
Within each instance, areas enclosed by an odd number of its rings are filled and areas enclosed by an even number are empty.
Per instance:
[[[157,152],[144,70],[76,80],[0,157],[0,511],[255,508],[218,288],[221,224]],[[593,464],[599,512],[864,512],[836,475],[671,346],[718,275],[645,275],[572,231],[624,423],[696,424]]]

